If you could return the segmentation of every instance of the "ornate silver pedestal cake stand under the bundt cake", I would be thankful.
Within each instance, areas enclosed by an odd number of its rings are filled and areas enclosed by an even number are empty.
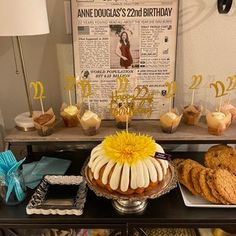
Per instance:
[[[82,175],[84,176],[88,187],[94,191],[97,196],[111,199],[114,208],[122,214],[140,213],[144,211],[147,206],[147,199],[158,198],[161,195],[170,192],[170,190],[177,186],[177,176],[175,169],[173,164],[169,162],[169,168],[165,179],[153,189],[143,193],[134,193],[129,195],[116,192],[112,193],[96,183],[87,163],[88,160],[85,162],[82,168]]]

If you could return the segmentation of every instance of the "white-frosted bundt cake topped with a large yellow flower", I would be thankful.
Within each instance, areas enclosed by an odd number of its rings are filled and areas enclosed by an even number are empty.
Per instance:
[[[163,148],[146,135],[120,132],[96,146],[88,163],[93,181],[109,192],[143,193],[165,179],[169,163],[155,158]]]

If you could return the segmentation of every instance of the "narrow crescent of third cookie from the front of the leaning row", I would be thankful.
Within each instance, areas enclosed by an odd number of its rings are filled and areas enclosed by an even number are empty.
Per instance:
[[[201,194],[209,202],[220,203],[220,201],[213,196],[213,194],[211,193],[211,189],[209,188],[209,186],[207,184],[206,175],[207,175],[207,172],[210,172],[210,171],[212,171],[212,170],[209,168],[205,168],[200,171],[199,184],[200,184],[200,188],[201,188]]]

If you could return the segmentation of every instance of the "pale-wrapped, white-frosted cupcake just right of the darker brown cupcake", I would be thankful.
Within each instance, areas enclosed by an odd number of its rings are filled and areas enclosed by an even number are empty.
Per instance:
[[[231,124],[231,116],[231,113],[225,110],[208,112],[206,114],[208,133],[222,135]]]

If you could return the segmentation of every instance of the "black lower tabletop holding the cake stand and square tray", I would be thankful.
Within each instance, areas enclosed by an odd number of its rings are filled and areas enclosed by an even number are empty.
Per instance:
[[[67,174],[79,174],[82,163],[90,151],[78,153],[49,153],[48,156],[71,159],[73,164]],[[186,154],[178,153],[179,157]],[[188,156],[201,159],[200,153]],[[32,156],[37,160],[41,155]],[[149,200],[144,213],[140,215],[120,215],[112,207],[111,201],[88,192],[84,213],[81,216],[27,215],[25,208],[33,191],[28,191],[27,199],[18,206],[0,204],[1,227],[223,227],[236,226],[236,210],[214,208],[189,208],[183,203],[178,188],[160,198]],[[63,189],[61,191],[63,194]]]

